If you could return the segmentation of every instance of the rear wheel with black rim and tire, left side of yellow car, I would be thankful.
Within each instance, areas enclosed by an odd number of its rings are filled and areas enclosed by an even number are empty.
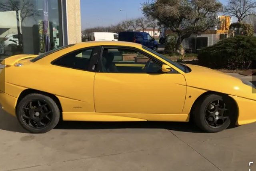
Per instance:
[[[42,94],[26,95],[16,108],[18,121],[30,133],[46,133],[60,120],[60,109],[55,101]]]

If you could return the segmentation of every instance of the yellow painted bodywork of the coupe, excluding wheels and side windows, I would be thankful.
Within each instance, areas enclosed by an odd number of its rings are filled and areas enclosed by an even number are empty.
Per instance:
[[[93,46],[136,48],[176,70],[177,74],[122,74],[76,70],[51,62],[70,52]],[[237,124],[256,121],[256,95],[241,80],[208,68],[188,65],[179,68],[130,42],[88,42],[49,54],[36,62],[35,56],[7,58],[0,73],[0,103],[15,115],[18,98],[27,89],[55,95],[62,117],[70,121],[189,121],[192,105],[200,95],[215,91],[230,95],[238,106]],[[15,64],[21,63],[17,67]],[[132,64],[116,64],[132,66]],[[140,67],[144,67],[140,65]]]

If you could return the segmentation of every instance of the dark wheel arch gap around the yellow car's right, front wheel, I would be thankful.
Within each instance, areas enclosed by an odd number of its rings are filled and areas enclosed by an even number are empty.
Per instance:
[[[210,94],[221,95],[221,96],[223,96],[223,97],[229,99],[230,102],[231,102],[232,104],[234,104],[234,106],[235,106],[235,107],[234,107],[234,110],[235,110],[235,111],[234,111],[234,113],[235,113],[235,115],[234,115],[235,121],[234,121],[234,122],[236,123],[237,120],[238,120],[238,115],[239,115],[239,113],[238,113],[238,111],[239,111],[238,104],[237,104],[236,101],[235,101],[232,97],[230,97],[228,94],[220,93],[220,92],[216,92],[216,91],[206,91],[205,93],[202,93],[202,94],[194,101],[194,103],[193,103],[193,105],[192,105],[192,107],[191,107],[191,110],[190,110],[190,119],[193,118],[192,116],[195,114],[195,113],[194,113],[194,109],[195,109],[195,106],[197,105],[198,101],[199,101],[200,99],[204,98],[206,95],[210,95]]]

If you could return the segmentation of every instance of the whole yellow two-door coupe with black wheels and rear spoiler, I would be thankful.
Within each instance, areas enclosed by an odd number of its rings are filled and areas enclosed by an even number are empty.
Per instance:
[[[87,42],[2,62],[0,103],[31,133],[64,121],[178,121],[218,132],[256,121],[254,85],[140,44]]]

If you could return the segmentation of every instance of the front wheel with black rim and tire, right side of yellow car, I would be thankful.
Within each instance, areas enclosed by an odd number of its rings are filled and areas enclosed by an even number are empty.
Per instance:
[[[230,106],[232,105],[227,97],[216,94],[206,95],[195,106],[194,122],[203,131],[220,132],[234,121],[234,113]]]

